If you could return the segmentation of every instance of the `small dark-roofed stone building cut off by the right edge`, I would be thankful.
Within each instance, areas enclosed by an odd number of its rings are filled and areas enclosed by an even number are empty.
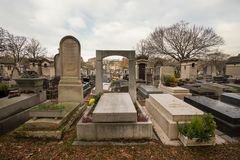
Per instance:
[[[225,74],[240,79],[240,54],[228,59]]]

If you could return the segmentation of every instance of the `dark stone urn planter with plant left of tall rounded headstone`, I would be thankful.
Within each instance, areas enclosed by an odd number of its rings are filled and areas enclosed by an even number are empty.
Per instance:
[[[43,80],[34,71],[25,71],[21,78],[14,79],[20,89],[20,92],[41,92],[43,90]]]

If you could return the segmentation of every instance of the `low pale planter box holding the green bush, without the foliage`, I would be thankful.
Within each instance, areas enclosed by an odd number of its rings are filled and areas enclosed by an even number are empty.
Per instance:
[[[190,139],[179,133],[178,138],[184,146],[212,146],[216,144],[215,136],[211,137],[208,141],[199,141],[199,138]]]

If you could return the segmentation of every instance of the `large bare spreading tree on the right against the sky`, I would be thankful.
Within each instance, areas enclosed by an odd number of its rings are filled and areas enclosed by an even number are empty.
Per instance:
[[[149,54],[171,57],[178,62],[210,52],[224,44],[212,28],[190,26],[181,21],[170,27],[157,27],[147,38]]]

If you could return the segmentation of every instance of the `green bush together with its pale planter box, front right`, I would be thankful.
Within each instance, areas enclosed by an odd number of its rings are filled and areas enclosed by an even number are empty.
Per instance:
[[[211,114],[194,116],[190,123],[178,123],[178,138],[184,146],[215,144],[216,122]]]

